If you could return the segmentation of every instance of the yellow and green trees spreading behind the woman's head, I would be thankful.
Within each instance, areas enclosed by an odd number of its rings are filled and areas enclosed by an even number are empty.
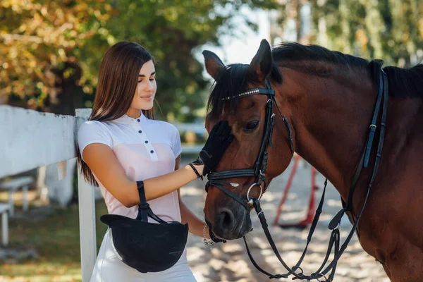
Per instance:
[[[140,42],[157,61],[163,115],[190,118],[180,108],[203,106],[200,93],[207,87],[192,51],[206,42],[219,44],[220,34],[236,28],[231,18],[243,5],[275,6],[259,0],[4,0],[0,96],[73,114],[75,107],[90,106],[104,51],[127,40]]]

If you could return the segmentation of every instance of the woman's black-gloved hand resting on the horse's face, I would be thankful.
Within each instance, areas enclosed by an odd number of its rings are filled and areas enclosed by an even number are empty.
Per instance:
[[[224,152],[231,145],[234,138],[231,130],[228,121],[218,121],[210,131],[198,158],[192,162],[195,166],[204,164],[204,168],[198,170],[202,176],[205,176],[219,164]]]

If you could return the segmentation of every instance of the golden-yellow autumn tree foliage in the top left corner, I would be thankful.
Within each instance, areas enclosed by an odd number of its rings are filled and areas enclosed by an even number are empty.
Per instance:
[[[99,1],[0,2],[0,97],[23,99],[32,109],[56,103],[61,80],[98,32],[96,22],[109,18],[110,5]],[[61,73],[61,75],[59,75]]]

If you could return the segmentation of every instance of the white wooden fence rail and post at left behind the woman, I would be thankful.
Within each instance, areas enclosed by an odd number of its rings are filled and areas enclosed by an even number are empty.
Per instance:
[[[91,109],[77,109],[75,116],[0,105],[0,178],[40,166],[57,169],[66,177],[66,164],[75,159],[76,135]],[[178,127],[178,125],[177,125]],[[201,146],[185,147],[198,152]],[[79,168],[78,168],[79,171]],[[78,175],[82,281],[89,281],[97,256],[94,189]]]

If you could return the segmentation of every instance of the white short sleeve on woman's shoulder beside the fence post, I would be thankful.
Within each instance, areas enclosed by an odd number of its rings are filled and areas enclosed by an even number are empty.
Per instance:
[[[78,130],[78,147],[81,156],[85,147],[92,143],[102,143],[112,147],[111,136],[99,121],[85,121]]]

